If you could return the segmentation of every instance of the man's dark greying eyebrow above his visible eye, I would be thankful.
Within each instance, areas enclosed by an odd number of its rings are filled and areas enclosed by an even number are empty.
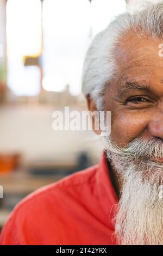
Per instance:
[[[131,90],[140,90],[141,92],[145,92],[145,93],[154,93],[153,90],[151,89],[150,84],[126,82],[125,84],[123,84],[123,86],[118,88],[117,97],[121,98],[122,96],[128,94],[128,92],[130,92]]]

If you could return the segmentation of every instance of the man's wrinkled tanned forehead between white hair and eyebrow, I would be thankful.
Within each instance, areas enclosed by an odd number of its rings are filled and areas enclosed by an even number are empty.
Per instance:
[[[129,31],[118,42],[115,56],[121,80],[126,76],[146,81],[163,78],[163,38],[150,39]]]

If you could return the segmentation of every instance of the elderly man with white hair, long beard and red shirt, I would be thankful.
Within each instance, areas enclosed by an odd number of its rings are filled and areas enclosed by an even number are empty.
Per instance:
[[[95,37],[83,93],[90,111],[111,111],[102,159],[18,204],[2,245],[163,244],[162,43],[161,2],[116,17]]]

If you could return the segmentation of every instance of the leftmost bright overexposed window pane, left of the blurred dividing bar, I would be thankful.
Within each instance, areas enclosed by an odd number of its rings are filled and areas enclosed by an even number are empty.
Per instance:
[[[8,0],[7,56],[8,86],[18,96],[40,92],[40,69],[24,66],[25,56],[39,56],[41,51],[41,1]]]

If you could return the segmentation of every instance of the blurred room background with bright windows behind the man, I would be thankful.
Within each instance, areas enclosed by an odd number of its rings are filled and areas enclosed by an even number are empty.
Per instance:
[[[124,10],[124,0],[0,0],[0,229],[27,194],[98,163],[92,131],[54,131],[52,113],[86,110],[86,49]]]

